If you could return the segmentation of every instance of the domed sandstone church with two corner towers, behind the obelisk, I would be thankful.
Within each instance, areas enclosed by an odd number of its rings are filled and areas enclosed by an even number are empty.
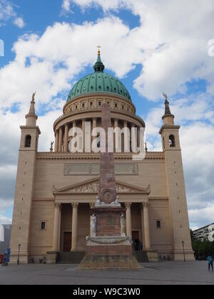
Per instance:
[[[140,128],[146,124],[136,114],[134,99],[120,80],[104,71],[100,51],[93,68],[93,73],[73,86],[63,115],[54,121],[55,142],[48,152],[38,151],[42,132],[33,95],[26,125],[21,126],[11,230],[13,263],[18,254],[20,263],[39,263],[49,252],[75,255],[86,251],[86,236],[91,235],[89,210],[98,194],[100,153],[86,150],[84,136],[86,123],[91,122],[91,131],[101,127],[103,103],[111,107],[112,127],[136,128],[133,143],[140,146]],[[180,126],[174,118],[165,95],[160,128],[163,150],[146,148],[144,159],[133,159],[133,152],[128,151],[133,140],[125,133],[114,133],[116,192],[126,208],[126,235],[131,236],[134,251],[156,251],[160,259],[173,261],[183,261],[185,254],[187,261],[193,261]],[[75,128],[83,132],[83,151],[73,153],[71,129]]]

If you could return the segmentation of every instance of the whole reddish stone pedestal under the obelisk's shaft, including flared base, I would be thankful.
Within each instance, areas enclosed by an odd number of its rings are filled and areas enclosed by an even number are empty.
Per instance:
[[[131,237],[122,236],[121,215],[125,213],[120,205],[91,209],[96,216],[96,234],[86,238],[86,256],[78,268],[141,268],[133,256]]]

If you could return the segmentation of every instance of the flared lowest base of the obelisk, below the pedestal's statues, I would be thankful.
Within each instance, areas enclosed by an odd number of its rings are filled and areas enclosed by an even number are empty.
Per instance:
[[[79,269],[141,268],[133,256],[130,237],[86,238],[86,256]]]

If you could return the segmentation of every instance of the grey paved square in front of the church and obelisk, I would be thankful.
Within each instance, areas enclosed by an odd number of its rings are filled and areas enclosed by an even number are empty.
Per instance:
[[[206,262],[142,264],[140,270],[78,270],[77,265],[0,265],[0,285],[214,285]]]

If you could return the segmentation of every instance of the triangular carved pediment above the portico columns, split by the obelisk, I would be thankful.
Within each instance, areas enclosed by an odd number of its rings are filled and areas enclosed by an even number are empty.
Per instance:
[[[99,178],[91,179],[90,181],[73,184],[71,186],[56,189],[53,186],[53,194],[98,194]],[[130,184],[121,183],[116,181],[117,194],[150,194],[151,187],[146,189],[136,187]]]

